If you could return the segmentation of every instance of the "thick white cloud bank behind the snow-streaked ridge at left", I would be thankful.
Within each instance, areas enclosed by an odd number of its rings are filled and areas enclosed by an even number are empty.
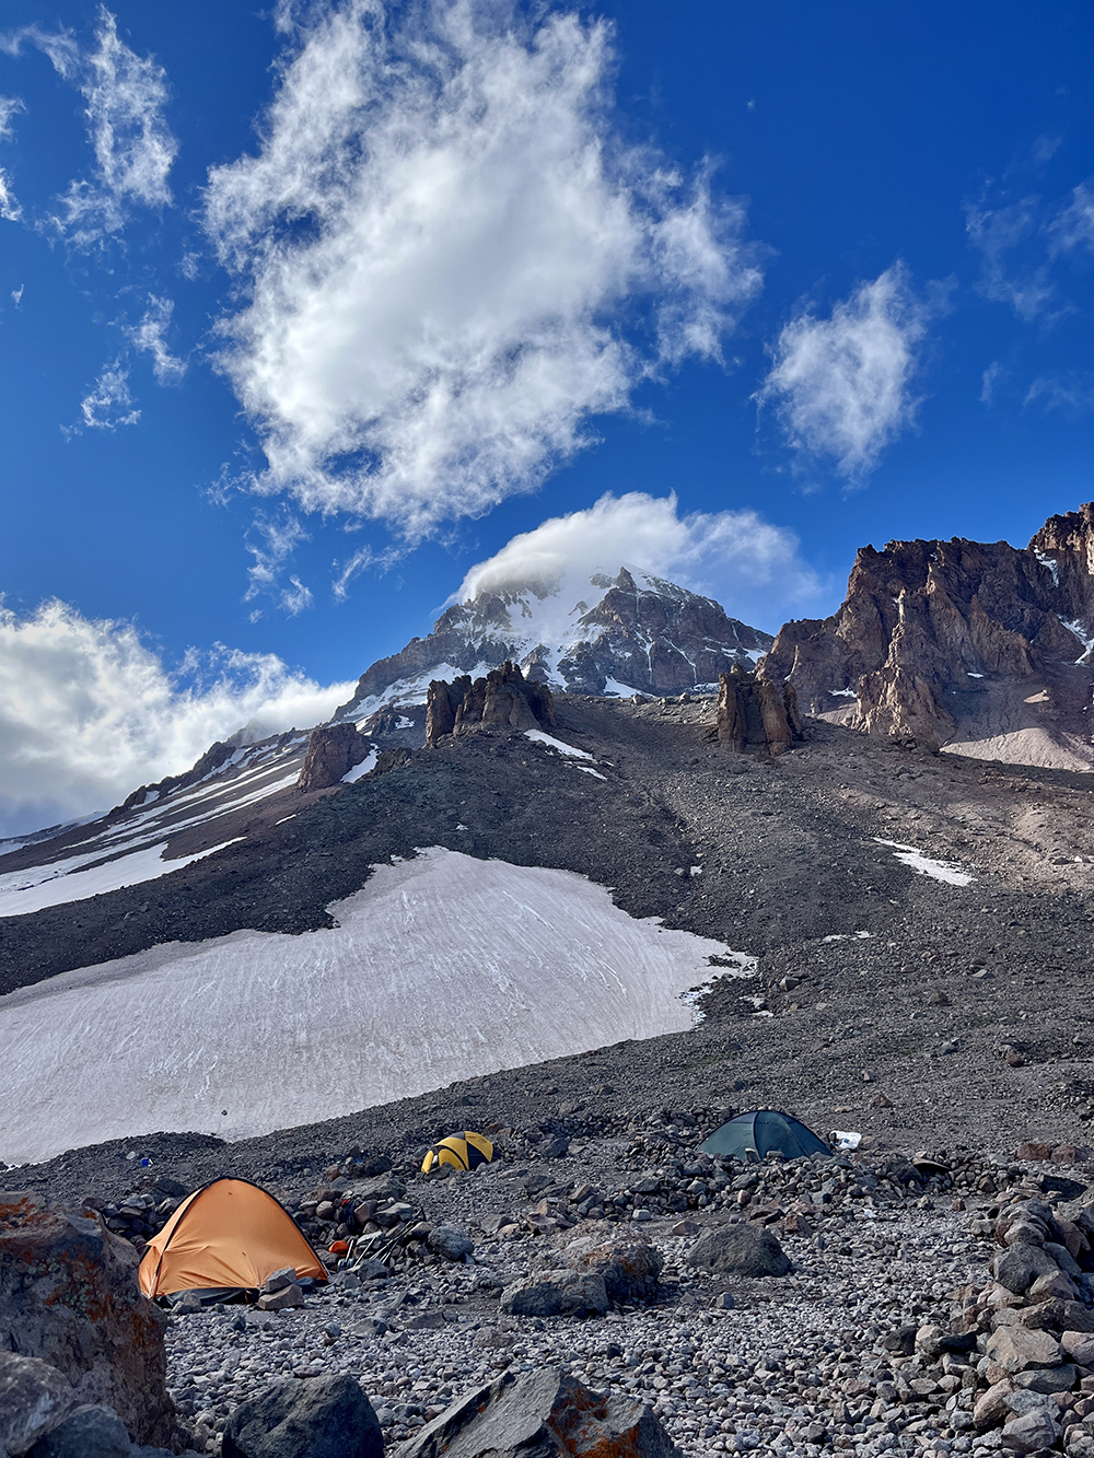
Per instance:
[[[63,602],[0,611],[0,833],[108,809],[178,774],[214,739],[330,717],[352,684],[327,688],[273,653],[190,655],[187,682],[128,623],[93,623]]]

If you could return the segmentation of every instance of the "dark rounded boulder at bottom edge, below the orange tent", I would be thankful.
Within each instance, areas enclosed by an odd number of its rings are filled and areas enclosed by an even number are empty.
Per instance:
[[[228,1420],[222,1458],[382,1458],[384,1433],[352,1376],[277,1382]]]

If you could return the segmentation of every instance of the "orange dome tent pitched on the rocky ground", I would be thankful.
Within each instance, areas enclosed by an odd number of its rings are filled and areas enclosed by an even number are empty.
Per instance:
[[[140,1263],[146,1296],[178,1290],[255,1290],[292,1266],[327,1280],[327,1270],[289,1212],[249,1180],[213,1180],[188,1196],[149,1241]]]

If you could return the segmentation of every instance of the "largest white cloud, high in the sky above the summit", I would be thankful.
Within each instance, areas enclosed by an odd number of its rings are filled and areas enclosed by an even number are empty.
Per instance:
[[[506,0],[319,3],[206,227],[249,289],[223,369],[260,490],[414,539],[532,490],[588,418],[718,357],[760,287],[740,203],[608,121],[610,29]]]

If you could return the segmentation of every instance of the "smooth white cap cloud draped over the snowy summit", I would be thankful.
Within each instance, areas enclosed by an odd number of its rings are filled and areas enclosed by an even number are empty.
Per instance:
[[[595,572],[639,567],[693,592],[713,596],[754,625],[777,628],[783,615],[823,590],[798,555],[798,538],[750,509],[681,516],[675,494],[602,496],[595,506],[554,516],[513,537],[473,567],[452,596],[562,585],[566,607],[588,592]]]

